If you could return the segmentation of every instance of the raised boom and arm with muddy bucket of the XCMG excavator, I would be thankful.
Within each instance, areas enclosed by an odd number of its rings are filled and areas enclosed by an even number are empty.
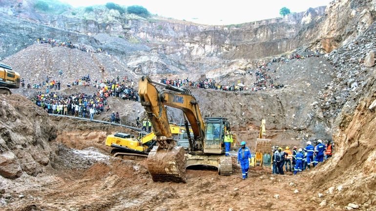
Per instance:
[[[163,86],[165,90],[160,92],[155,85]],[[202,150],[205,125],[196,99],[187,89],[162,84],[147,76],[140,79],[138,93],[141,105],[144,106],[153,126],[155,134],[153,140],[158,142],[158,146],[153,147],[146,160],[153,181],[186,182],[185,150],[183,147],[176,147],[165,106],[183,111],[185,118],[188,119],[185,121],[185,126],[190,150]],[[194,137],[190,136],[188,121]]]

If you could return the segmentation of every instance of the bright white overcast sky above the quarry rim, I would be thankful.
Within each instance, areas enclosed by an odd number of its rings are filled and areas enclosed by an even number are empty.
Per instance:
[[[159,16],[202,24],[227,25],[279,17],[279,9],[306,11],[332,0],[62,0],[73,7],[114,2],[141,5]]]

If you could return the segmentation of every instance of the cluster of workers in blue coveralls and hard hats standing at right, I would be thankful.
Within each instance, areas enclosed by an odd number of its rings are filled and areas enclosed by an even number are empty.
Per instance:
[[[281,147],[274,147],[272,173],[284,174],[283,167],[285,166],[286,172],[293,170],[293,174],[296,174],[311,169],[311,164],[312,167],[315,167],[318,163],[323,162],[324,158],[327,160],[332,156],[334,144],[330,140],[327,140],[324,145],[322,140],[318,139],[314,141],[314,145],[308,141],[305,148],[297,149],[294,146],[292,152],[288,146],[284,151]]]

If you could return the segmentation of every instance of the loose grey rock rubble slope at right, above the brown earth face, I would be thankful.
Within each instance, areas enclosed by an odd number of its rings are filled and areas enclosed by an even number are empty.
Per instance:
[[[370,67],[375,66],[376,23],[358,38],[326,55],[334,66],[333,82],[319,93],[323,116],[335,118],[346,105],[355,108]]]

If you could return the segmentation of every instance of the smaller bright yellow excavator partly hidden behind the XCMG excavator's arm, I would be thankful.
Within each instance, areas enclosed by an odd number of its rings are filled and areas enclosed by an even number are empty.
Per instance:
[[[186,129],[170,124],[171,134],[178,140],[186,139]],[[192,130],[190,131],[192,132]],[[176,137],[177,136],[177,137]],[[146,134],[141,131],[137,138],[131,134],[115,133],[113,135],[107,135],[105,144],[111,147],[110,154],[114,157],[124,158],[124,156],[143,156],[147,157],[149,151],[156,145],[156,141],[153,141],[154,132]],[[183,141],[184,142],[184,141]]]

